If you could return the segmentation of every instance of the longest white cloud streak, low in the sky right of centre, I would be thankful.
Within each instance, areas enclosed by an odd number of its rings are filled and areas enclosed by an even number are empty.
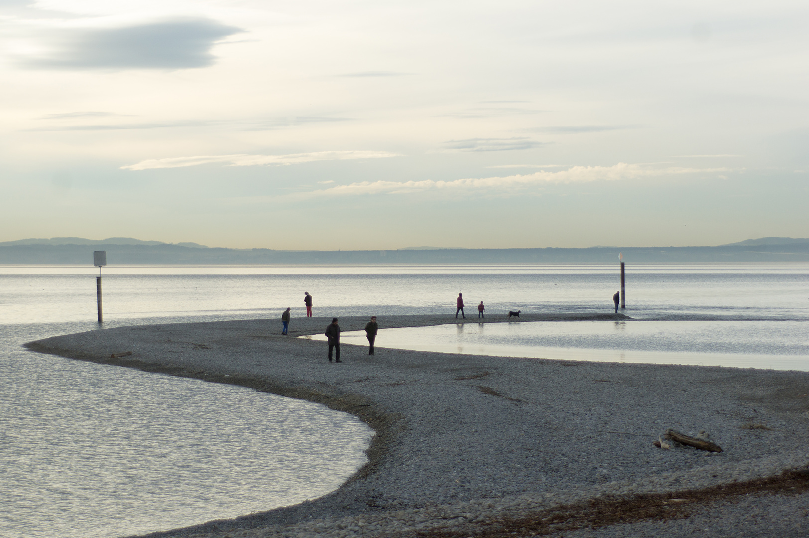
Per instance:
[[[618,163],[611,167],[570,167],[559,172],[535,172],[527,175],[485,177],[453,181],[362,181],[338,185],[329,189],[305,193],[308,196],[345,196],[361,194],[406,194],[424,191],[452,191],[455,193],[510,193],[519,192],[543,184],[589,183],[592,181],[616,181],[650,179],[660,176],[730,172],[730,168],[651,168],[639,164]]]

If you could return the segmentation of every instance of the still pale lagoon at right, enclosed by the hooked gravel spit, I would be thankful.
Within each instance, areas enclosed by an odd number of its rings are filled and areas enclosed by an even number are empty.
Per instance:
[[[807,321],[555,321],[379,331],[381,347],[607,362],[809,371]],[[362,333],[344,333],[360,344]],[[356,341],[352,341],[352,337]],[[316,338],[316,337],[315,337]]]

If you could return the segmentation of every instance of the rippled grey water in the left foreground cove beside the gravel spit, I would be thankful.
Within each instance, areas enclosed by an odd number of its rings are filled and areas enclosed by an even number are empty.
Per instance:
[[[366,461],[372,431],[321,405],[19,348],[78,329],[0,327],[3,538],[231,518],[326,494]]]

